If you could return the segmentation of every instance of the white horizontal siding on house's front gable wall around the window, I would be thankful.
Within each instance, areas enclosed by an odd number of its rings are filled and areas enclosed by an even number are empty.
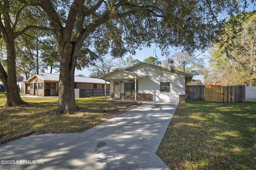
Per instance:
[[[139,80],[138,90],[139,93],[153,94],[153,101],[179,102],[179,95],[185,94],[185,77],[182,74],[145,64],[140,64],[128,71],[148,76]],[[160,82],[170,82],[170,92],[160,92]]]

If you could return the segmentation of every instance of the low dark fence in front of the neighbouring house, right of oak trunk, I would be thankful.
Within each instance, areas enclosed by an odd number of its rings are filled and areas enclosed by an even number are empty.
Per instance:
[[[106,89],[106,96],[109,96],[110,89]],[[92,89],[82,89],[75,88],[75,97],[76,98],[88,98],[96,96],[105,96],[104,88],[92,88]]]

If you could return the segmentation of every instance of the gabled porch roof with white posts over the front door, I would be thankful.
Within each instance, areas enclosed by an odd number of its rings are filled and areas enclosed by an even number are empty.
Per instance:
[[[136,82],[137,79],[148,78],[148,76],[143,76],[134,72],[130,72],[121,68],[117,68],[114,71],[99,77],[105,80],[105,100],[106,100],[106,80],[135,80],[135,92],[136,92]],[[134,96],[136,102],[136,93]]]

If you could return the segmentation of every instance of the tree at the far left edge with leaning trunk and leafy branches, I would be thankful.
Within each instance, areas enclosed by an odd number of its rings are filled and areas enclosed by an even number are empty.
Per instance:
[[[6,89],[6,104],[5,106],[15,106],[24,103],[19,95],[16,82],[16,50],[15,46],[20,45],[16,43],[16,38],[25,35],[26,31],[31,28],[39,28],[38,24],[43,23],[42,18],[38,22],[40,10],[30,8],[26,4],[19,1],[0,1],[0,40],[5,44],[6,56],[1,60],[6,61],[7,70],[5,70],[2,63],[0,63],[0,80],[3,82]],[[42,16],[42,15],[41,15]],[[4,40],[4,41],[2,41]],[[1,51],[3,46],[1,46]],[[22,47],[21,47],[22,48]]]

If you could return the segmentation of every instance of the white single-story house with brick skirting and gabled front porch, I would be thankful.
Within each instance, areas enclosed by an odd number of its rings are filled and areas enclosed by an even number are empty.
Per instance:
[[[185,102],[186,83],[192,77],[193,74],[140,62],[100,78],[110,80],[110,99]]]

